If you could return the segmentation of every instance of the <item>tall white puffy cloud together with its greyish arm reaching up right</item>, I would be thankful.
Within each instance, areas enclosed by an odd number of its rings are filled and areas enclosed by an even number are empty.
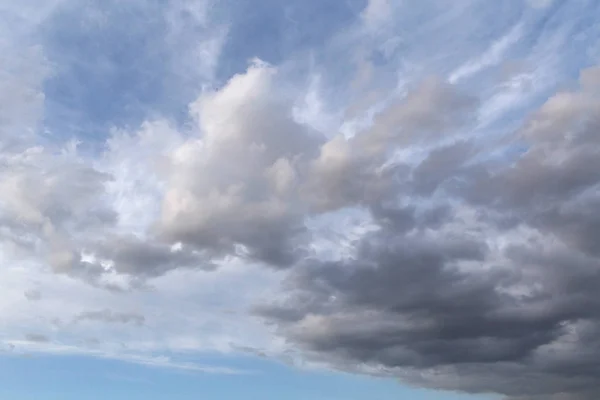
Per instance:
[[[390,149],[433,140],[474,104],[428,79],[363,135],[326,140],[292,118],[276,74],[256,63],[191,106],[203,135],[171,157],[159,224],[170,241],[289,266],[307,240],[306,217],[375,204],[391,190],[393,173],[381,169]]]

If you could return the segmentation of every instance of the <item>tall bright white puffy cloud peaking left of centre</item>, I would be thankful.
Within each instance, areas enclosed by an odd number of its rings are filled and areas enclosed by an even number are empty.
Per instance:
[[[273,265],[295,258],[290,239],[302,226],[292,165],[315,153],[319,138],[293,121],[275,73],[255,64],[191,106],[203,135],[172,155],[160,220],[169,240],[216,254],[239,244]]]

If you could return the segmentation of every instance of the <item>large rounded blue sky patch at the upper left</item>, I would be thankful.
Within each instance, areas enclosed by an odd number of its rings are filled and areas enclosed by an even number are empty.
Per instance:
[[[198,43],[220,29],[203,22],[159,0],[65,3],[39,32],[53,66],[45,125],[59,137],[102,141],[111,127],[184,121],[210,75]]]

